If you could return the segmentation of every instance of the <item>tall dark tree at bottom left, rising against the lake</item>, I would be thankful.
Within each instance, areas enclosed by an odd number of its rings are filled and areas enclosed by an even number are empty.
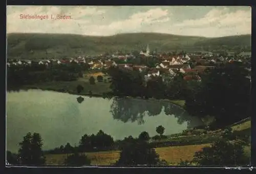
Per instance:
[[[42,151],[42,139],[39,134],[34,133],[32,135],[29,132],[24,136],[19,146],[18,156],[22,164],[39,165],[45,163],[45,157]]]

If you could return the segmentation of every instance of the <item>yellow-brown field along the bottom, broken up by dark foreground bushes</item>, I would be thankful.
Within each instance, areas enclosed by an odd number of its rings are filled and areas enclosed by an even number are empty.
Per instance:
[[[192,160],[196,151],[199,151],[203,147],[209,145],[210,144],[198,144],[174,147],[158,147],[156,148],[156,152],[159,154],[160,159],[166,160],[169,165],[178,165],[181,160]],[[91,159],[92,165],[111,165],[119,159],[119,153],[119,151],[115,150],[86,153],[86,155]],[[250,146],[245,146],[245,154],[247,157],[250,156]],[[66,158],[66,154],[46,155],[46,163],[48,165],[63,165]]]

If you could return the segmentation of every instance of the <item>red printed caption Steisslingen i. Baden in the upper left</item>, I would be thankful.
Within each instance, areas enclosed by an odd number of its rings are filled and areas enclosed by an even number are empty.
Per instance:
[[[20,14],[20,19],[30,19],[30,20],[71,20],[73,19],[71,15],[63,15],[63,14],[57,14],[57,15],[38,15],[38,14]]]

